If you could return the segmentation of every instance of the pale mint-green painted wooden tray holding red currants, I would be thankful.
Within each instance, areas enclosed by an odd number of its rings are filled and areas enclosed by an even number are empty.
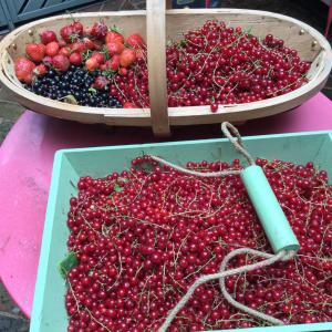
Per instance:
[[[280,158],[315,166],[332,172],[332,132],[251,136],[243,138],[253,156]],[[66,256],[66,212],[69,199],[76,195],[75,184],[80,176],[102,177],[131,166],[137,155],[154,154],[184,165],[188,160],[226,160],[238,158],[227,139],[207,139],[63,149],[55,154],[52,184],[44,225],[39,270],[37,277],[30,331],[66,331],[68,317],[64,308],[65,281],[58,264]],[[235,331],[235,330],[227,330]],[[301,332],[332,331],[332,322],[271,328],[241,329],[242,332]]]

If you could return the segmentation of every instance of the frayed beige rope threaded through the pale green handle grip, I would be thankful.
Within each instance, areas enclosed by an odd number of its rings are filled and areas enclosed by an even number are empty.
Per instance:
[[[230,143],[234,145],[234,147],[236,148],[236,151],[238,151],[240,154],[242,154],[248,164],[249,165],[255,165],[255,159],[252,158],[252,156],[249,154],[249,152],[243,147],[242,144],[242,139],[241,136],[238,132],[238,129],[231,125],[228,122],[224,122],[221,124],[221,131],[224,133],[224,135],[230,141]],[[232,135],[231,133],[235,135]],[[191,169],[187,169],[184,167],[180,167],[178,165],[172,164],[169,162],[166,162],[159,157],[156,156],[151,156],[152,159],[164,164],[168,167],[172,167],[174,169],[177,169],[179,172],[183,172],[185,174],[189,174],[189,175],[194,175],[194,176],[198,176],[198,177],[218,177],[218,176],[227,176],[227,175],[238,175],[241,173],[240,169],[229,169],[229,170],[220,170],[220,172],[210,172],[210,173],[203,173],[203,172],[196,172],[196,170],[191,170]],[[252,263],[252,264],[247,264],[243,267],[239,267],[236,269],[231,269],[231,270],[226,270],[227,263],[235,258],[238,255],[242,255],[242,253],[249,253],[249,255],[255,255],[258,257],[262,257],[264,258],[264,260],[259,261],[257,263]],[[239,248],[236,249],[231,252],[229,252],[222,260],[221,264],[220,264],[220,270],[218,273],[212,273],[212,274],[207,274],[207,276],[201,276],[199,277],[188,289],[187,293],[179,300],[179,302],[175,305],[174,309],[172,309],[168,312],[168,315],[165,320],[165,322],[163,323],[163,325],[159,328],[158,332],[165,332],[167,331],[167,329],[169,328],[172,321],[175,319],[175,317],[177,315],[177,313],[185,307],[185,304],[187,303],[187,301],[190,299],[190,297],[193,295],[193,293],[195,292],[195,290],[203,283],[207,282],[207,281],[211,281],[211,280],[216,280],[219,279],[219,286],[220,286],[220,290],[222,295],[225,297],[225,299],[235,308],[252,315],[256,317],[258,319],[264,320],[271,324],[276,324],[276,325],[282,325],[283,322],[281,320],[278,320],[269,314],[264,314],[262,312],[259,312],[257,310],[253,310],[242,303],[237,302],[227,291],[226,286],[225,286],[225,278],[226,277],[230,277],[230,276],[235,276],[235,274],[239,274],[242,272],[249,272],[249,271],[253,271],[256,269],[260,269],[263,267],[268,267],[273,264],[277,261],[284,261],[284,260],[289,260],[292,259],[294,257],[295,252],[294,251],[286,251],[286,250],[281,250],[280,252],[278,252],[277,255],[272,255],[272,253],[267,253],[267,252],[262,252],[262,251],[258,251],[258,250],[253,250],[251,248]]]

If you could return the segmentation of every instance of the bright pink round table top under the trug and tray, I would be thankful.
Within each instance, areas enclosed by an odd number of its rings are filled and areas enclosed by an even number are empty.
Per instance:
[[[240,127],[242,135],[332,129],[332,103],[318,94],[302,106]],[[174,128],[173,141],[220,137],[220,126]],[[0,278],[30,317],[56,149],[154,142],[149,128],[84,125],[27,111],[0,148]]]

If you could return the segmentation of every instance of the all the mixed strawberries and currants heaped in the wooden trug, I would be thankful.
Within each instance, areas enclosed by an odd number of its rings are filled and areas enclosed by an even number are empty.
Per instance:
[[[71,100],[81,105],[149,106],[146,45],[138,33],[125,40],[118,28],[108,29],[103,21],[86,29],[73,21],[61,28],[60,35],[61,40],[54,31],[42,32],[41,43],[27,44],[27,58],[15,60],[17,77],[29,90],[56,100],[70,92]],[[299,89],[308,82],[310,69],[310,63],[301,61],[282,40],[268,34],[260,41],[222,21],[207,21],[185,33],[181,41],[169,42],[166,59],[168,105],[210,105],[211,112],[217,112],[219,104],[250,103]],[[79,75],[77,83],[70,82],[70,90],[49,80],[53,79],[49,71],[71,72],[71,64],[85,73]],[[82,76],[94,79],[86,81],[87,92],[81,90]],[[91,96],[90,87],[101,90],[101,95]],[[106,92],[110,101],[104,97]]]

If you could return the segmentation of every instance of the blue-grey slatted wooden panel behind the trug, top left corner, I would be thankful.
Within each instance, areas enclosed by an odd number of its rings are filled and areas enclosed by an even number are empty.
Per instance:
[[[95,2],[95,0],[28,0],[6,1],[13,23],[52,14],[61,10]]]

